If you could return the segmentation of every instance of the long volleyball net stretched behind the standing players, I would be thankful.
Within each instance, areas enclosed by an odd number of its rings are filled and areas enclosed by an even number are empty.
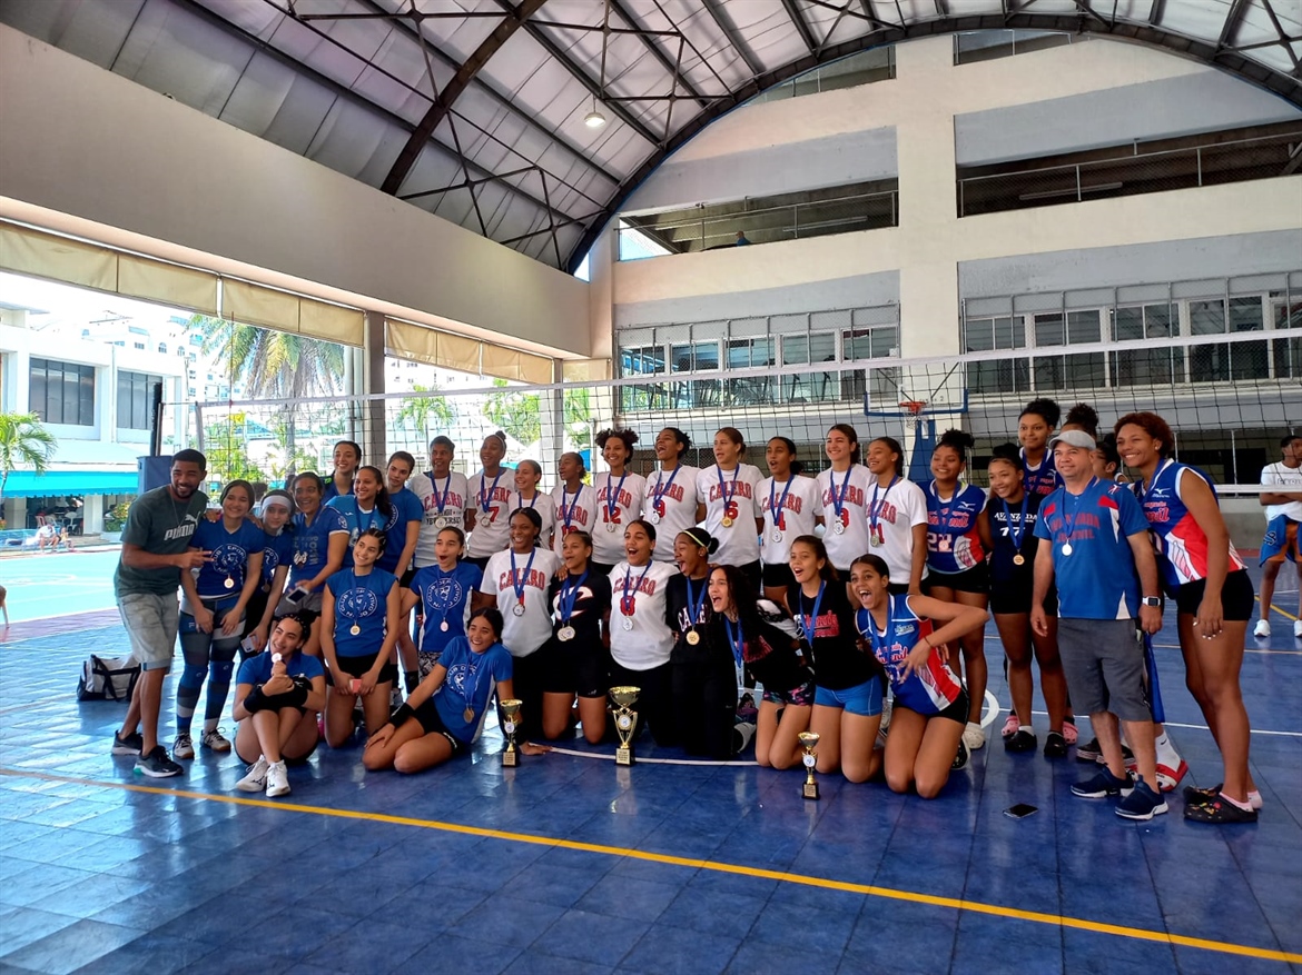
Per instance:
[[[1122,415],[1152,411],[1176,432],[1181,460],[1197,464],[1223,494],[1251,494],[1263,465],[1280,459],[1279,442],[1302,429],[1302,306],[1297,328],[1181,338],[1134,338],[1051,348],[990,348],[958,356],[681,368],[668,350],[638,350],[617,363],[625,378],[542,386],[462,377],[464,387],[370,396],[174,404],[187,417],[187,446],[208,455],[215,481],[232,477],[276,484],[289,471],[328,472],[340,439],[363,445],[366,463],[383,468],[398,450],[427,467],[434,437],[457,446],[454,469],[479,467],[479,445],[506,434],[506,464],[536,460],[543,486],[556,484],[561,454],[583,455],[590,472],[605,468],[596,434],[611,426],[641,439],[631,469],[654,471],[654,439],[674,426],[691,439],[685,463],[713,463],[715,433],[741,432],[746,460],[764,467],[764,445],[783,436],[797,445],[807,473],[825,467],[829,426],[853,425],[866,446],[898,439],[910,473],[927,469],[936,436],[950,426],[975,438],[969,477],[986,482],[995,445],[1016,442],[1018,417],[1036,398],[1070,407],[1087,403],[1099,433]],[[1069,328],[1069,322],[1064,322]],[[690,364],[689,364],[690,365]]]

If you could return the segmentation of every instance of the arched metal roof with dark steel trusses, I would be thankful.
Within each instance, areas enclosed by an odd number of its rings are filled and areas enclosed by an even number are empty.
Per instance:
[[[669,153],[820,64],[936,34],[1072,31],[1163,47],[1302,107],[1298,12],[1295,0],[0,0],[0,21],[29,35],[565,269]],[[583,122],[594,105],[600,129]]]

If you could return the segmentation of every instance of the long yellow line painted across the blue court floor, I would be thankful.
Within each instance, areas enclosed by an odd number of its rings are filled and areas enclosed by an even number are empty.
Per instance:
[[[523,842],[535,846],[549,846],[562,850],[579,850],[582,853],[598,853],[607,857],[628,857],[629,859],[647,861],[650,863],[664,863],[674,867],[690,867],[694,870],[711,870],[717,874],[736,874],[738,876],[760,878],[764,880],[777,880],[788,884],[801,884],[816,887],[824,890],[842,890],[858,893],[866,897],[884,897],[892,901],[906,901],[910,904],[926,904],[932,907],[948,907],[952,910],[965,910],[973,914],[988,914],[996,918],[1016,918],[1036,924],[1052,924],[1056,927],[1074,928],[1077,931],[1091,931],[1099,935],[1115,935],[1117,937],[1130,937],[1138,941],[1157,941],[1160,944],[1181,945],[1182,948],[1198,948],[1206,952],[1220,952],[1246,958],[1263,958],[1272,962],[1302,963],[1302,954],[1292,952],[1277,952],[1269,948],[1256,948],[1253,945],[1238,945],[1232,941],[1211,941],[1203,937],[1189,937],[1187,935],[1172,935],[1163,931],[1148,931],[1146,928],[1131,928],[1122,924],[1107,924],[1100,920],[1087,920],[1085,918],[1069,918],[1060,914],[1044,914],[1042,911],[1026,911],[1017,907],[1005,907],[997,904],[982,904],[979,901],[966,901],[958,897],[937,897],[935,894],[917,893],[913,890],[896,890],[889,887],[874,887],[872,884],[854,884],[845,880],[828,880],[825,878],[809,876],[805,874],[786,874],[777,870],[764,870],[762,867],[746,867],[738,863],[720,863],[708,859],[695,859],[691,857],[674,857],[667,853],[650,853],[647,850],[633,850],[622,846],[605,846],[603,844],[582,842],[578,840],[561,840],[552,836],[531,836],[529,833],[510,833],[503,829],[486,829],[477,826],[462,826],[461,823],[441,823],[434,819],[411,819],[408,816],[393,816],[385,812],[361,812],[350,809],[326,809],[322,806],[301,806],[293,802],[271,802],[268,800],[254,800],[241,796],[217,796],[206,792],[189,792],[186,789],[165,789],[156,785],[135,785],[133,783],[105,783],[95,779],[77,779],[64,775],[49,775],[47,772],[27,772],[16,768],[0,768],[0,775],[18,779],[39,779],[43,781],[69,783],[73,785],[98,785],[105,789],[122,789],[125,792],[142,792],[154,796],[174,796],[186,800],[206,800],[210,802],[225,802],[232,806],[258,806],[262,809],[275,809],[286,812],[307,812],[312,815],[333,816],[337,819],[357,819],[370,823],[388,823],[392,826],[410,826],[419,829],[437,829],[447,833],[460,833],[464,836],[478,836],[490,840],[505,840],[508,842]]]

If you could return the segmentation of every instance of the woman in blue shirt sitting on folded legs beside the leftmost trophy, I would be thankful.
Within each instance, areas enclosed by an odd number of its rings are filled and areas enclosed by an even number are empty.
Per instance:
[[[368,770],[395,768],[410,775],[470,754],[483,729],[493,684],[499,701],[514,694],[501,627],[501,614],[493,607],[470,614],[466,634],[448,644],[430,676],[366,742],[362,763]]]

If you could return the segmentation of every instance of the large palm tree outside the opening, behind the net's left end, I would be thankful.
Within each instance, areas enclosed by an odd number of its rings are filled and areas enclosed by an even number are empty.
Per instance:
[[[216,355],[230,382],[243,382],[249,398],[279,400],[276,410],[285,424],[285,458],[293,473],[296,400],[341,391],[344,346],[207,315],[191,317],[190,328],[203,335],[203,351]]]

